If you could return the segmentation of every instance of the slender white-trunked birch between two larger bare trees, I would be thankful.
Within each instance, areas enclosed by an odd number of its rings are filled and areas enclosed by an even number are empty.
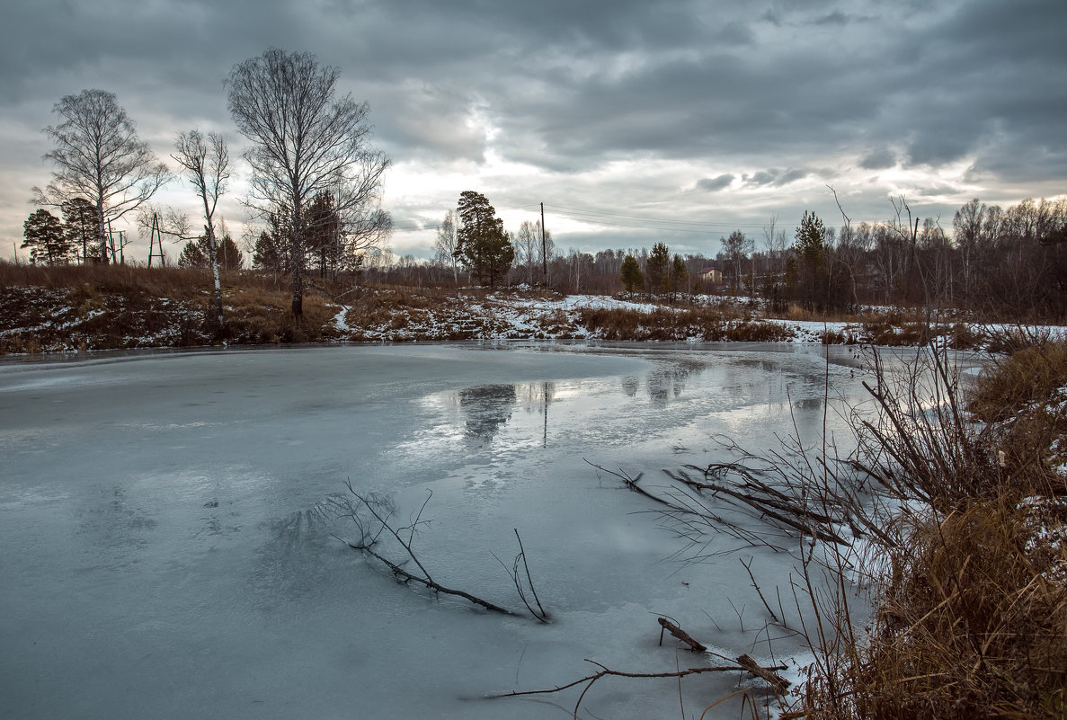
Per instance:
[[[219,197],[226,191],[229,179],[229,150],[226,141],[218,132],[209,132],[205,140],[200,130],[178,133],[174,142],[175,154],[171,157],[186,170],[186,177],[193,185],[196,194],[204,202],[204,230],[214,276],[214,319],[221,329],[222,279],[219,273],[219,244],[214,237],[214,208]]]

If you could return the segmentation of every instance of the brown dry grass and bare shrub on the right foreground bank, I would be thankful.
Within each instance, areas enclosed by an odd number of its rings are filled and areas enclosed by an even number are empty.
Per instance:
[[[970,402],[980,425],[945,355],[935,357],[940,389],[918,367],[872,388],[882,412],[860,422],[861,457],[903,506],[885,571],[871,578],[872,625],[813,666],[802,713],[1067,717],[1067,486],[1056,467],[1067,346],[1020,351],[985,374]],[[828,624],[854,637],[847,609],[832,610]]]

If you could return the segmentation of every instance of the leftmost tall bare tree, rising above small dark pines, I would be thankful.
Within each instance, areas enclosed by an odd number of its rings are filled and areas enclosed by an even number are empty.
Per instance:
[[[109,223],[147,202],[170,178],[166,165],[138,138],[114,93],[83,90],[65,96],[52,112],[63,122],[44,129],[55,143],[44,157],[55,170],[47,188],[33,188],[33,202],[61,207],[85,197],[95,203],[100,262],[106,263]]]

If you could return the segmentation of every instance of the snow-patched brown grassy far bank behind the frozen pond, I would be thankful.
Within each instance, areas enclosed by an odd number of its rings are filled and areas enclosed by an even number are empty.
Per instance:
[[[208,317],[207,271],[128,266],[32,267],[0,262],[0,354],[212,343],[469,339],[806,341],[982,347],[990,333],[962,315],[866,308],[861,315],[778,316],[746,298],[563,297],[522,286],[353,285],[312,277],[300,319],[284,277],[223,276],[225,325]],[[998,333],[993,333],[998,335]]]

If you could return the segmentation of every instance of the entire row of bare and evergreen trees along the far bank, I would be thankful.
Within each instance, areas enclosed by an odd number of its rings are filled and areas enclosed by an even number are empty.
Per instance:
[[[854,225],[843,211],[834,228],[806,213],[790,242],[773,217],[762,238],[735,230],[719,240],[714,256],[682,256],[664,242],[651,250],[563,253],[540,222],[509,233],[484,195],[464,191],[437,229],[430,263],[410,256],[389,262],[385,240],[393,222],[380,195],[391,161],[370,145],[369,107],[339,95],[337,80],[338,70],[315,55],[276,48],[235,65],[225,80],[234,124],[249,141],[243,203],[262,223],[245,250],[254,267],[290,278],[298,317],[309,275],[361,270],[402,281],[460,283],[462,275],[490,287],[526,283],[667,299],[714,288],[775,309],[848,311],[882,303],[1064,315],[1063,198],[1025,199],[1006,209],[973,199],[955,213],[950,233],[935,219],[913,215],[899,197],[882,223]],[[186,241],[179,265],[212,270],[213,315],[221,325],[220,270],[244,260],[233,239],[217,233],[216,209],[232,174],[223,137],[192,129],[175,140],[171,158],[203,206],[202,218],[191,223],[150,205],[175,175],[139,139],[112,93],[85,90],[62,98],[53,111],[61,122],[44,128],[54,145],[45,155],[53,165],[51,182],[33,188],[43,207],[23,224],[31,262],[122,261],[126,240],[120,235],[116,242],[111,225],[136,213],[142,231],[160,245],[164,236]],[[193,224],[203,231],[191,231]]]

